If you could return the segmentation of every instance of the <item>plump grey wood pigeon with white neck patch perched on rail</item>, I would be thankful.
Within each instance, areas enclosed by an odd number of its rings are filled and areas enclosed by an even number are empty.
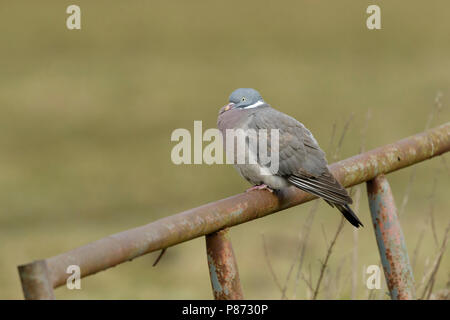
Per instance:
[[[351,197],[330,172],[325,153],[311,132],[296,119],[272,108],[258,91],[251,88],[233,91],[229,103],[219,111],[217,126],[222,133],[225,149],[227,130],[254,129],[257,133],[264,132],[260,131],[261,129],[266,129],[265,132],[278,130],[279,155],[276,172],[267,173],[268,164],[263,164],[259,157],[256,157],[253,163],[233,162],[239,174],[253,185],[249,190],[266,189],[277,192],[295,186],[336,207],[353,226],[363,226],[349,207],[349,204],[353,203]],[[245,141],[248,148],[249,139]],[[267,144],[270,151],[269,137]],[[248,160],[248,157],[246,159]]]

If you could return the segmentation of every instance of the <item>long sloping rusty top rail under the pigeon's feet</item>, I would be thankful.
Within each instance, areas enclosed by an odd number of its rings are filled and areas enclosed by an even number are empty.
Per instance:
[[[330,166],[350,187],[450,150],[450,122]],[[231,227],[307,202],[313,196],[296,188],[275,195],[248,192],[165,217],[145,226],[117,233],[47,259],[53,287],[66,282],[69,265],[81,276],[111,268],[143,254],[161,250],[225,227]]]

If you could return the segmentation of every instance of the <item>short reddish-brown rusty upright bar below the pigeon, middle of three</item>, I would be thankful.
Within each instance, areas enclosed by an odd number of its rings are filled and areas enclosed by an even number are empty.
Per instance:
[[[209,276],[216,300],[242,300],[241,282],[228,229],[205,236]]]

